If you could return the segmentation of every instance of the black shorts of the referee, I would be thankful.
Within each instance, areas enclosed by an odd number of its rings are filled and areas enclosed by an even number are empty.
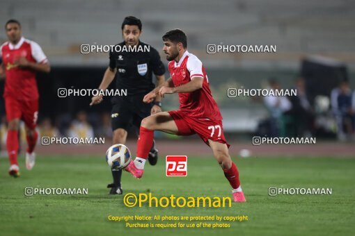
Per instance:
[[[123,128],[129,130],[131,126],[139,128],[141,121],[150,116],[152,103],[143,103],[142,95],[115,97],[112,101],[111,124],[112,130]]]

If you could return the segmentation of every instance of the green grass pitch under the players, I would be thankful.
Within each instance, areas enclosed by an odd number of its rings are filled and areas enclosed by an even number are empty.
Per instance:
[[[354,235],[354,158],[236,159],[246,203],[231,208],[127,208],[123,196],[110,196],[111,174],[104,157],[38,156],[36,167],[8,176],[0,160],[1,235]],[[231,196],[230,186],[212,157],[191,157],[187,177],[166,177],[165,161],[146,165],[141,180],[123,173],[124,194],[155,196]],[[87,187],[88,195],[24,196],[24,187]],[[268,196],[269,187],[331,187],[331,195]],[[125,228],[107,217],[160,214],[173,216],[247,215],[230,228]]]

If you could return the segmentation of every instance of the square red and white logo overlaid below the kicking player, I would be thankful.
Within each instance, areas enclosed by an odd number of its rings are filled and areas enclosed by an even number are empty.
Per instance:
[[[166,176],[187,176],[187,156],[167,155]]]

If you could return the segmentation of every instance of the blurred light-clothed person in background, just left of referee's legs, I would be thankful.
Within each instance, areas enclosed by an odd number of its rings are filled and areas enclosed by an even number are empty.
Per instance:
[[[68,130],[69,137],[95,137],[93,127],[88,123],[86,112],[80,111],[77,113],[77,119],[72,121]]]

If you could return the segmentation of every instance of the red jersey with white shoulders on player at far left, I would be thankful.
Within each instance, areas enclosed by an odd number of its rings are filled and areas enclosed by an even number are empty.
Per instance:
[[[47,57],[40,48],[40,45],[22,37],[16,45],[10,42],[2,44],[0,56],[2,57],[6,74],[3,97],[11,97],[24,101],[38,99],[36,71],[20,69],[15,60],[24,57],[29,62],[46,63]]]

